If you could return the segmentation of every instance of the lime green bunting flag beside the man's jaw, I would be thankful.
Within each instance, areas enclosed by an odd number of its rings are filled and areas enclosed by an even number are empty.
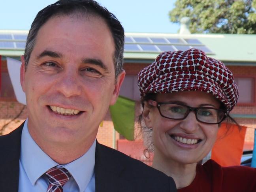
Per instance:
[[[134,140],[135,102],[119,96],[109,107],[115,130],[128,140]]]

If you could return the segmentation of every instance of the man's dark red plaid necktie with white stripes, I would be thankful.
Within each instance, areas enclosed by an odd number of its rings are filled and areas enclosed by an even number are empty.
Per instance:
[[[54,167],[45,173],[49,180],[47,192],[63,192],[63,186],[72,175],[65,168]]]

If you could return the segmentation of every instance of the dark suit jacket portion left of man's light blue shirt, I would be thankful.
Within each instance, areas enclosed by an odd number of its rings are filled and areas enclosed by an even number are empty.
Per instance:
[[[19,190],[19,158],[21,153],[21,132],[23,124],[8,135],[0,137],[0,189]]]

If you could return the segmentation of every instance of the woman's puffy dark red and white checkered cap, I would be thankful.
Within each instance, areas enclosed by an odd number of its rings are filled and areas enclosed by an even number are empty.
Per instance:
[[[141,96],[148,93],[204,91],[213,94],[228,111],[238,99],[233,74],[219,60],[199,49],[165,51],[138,75]]]

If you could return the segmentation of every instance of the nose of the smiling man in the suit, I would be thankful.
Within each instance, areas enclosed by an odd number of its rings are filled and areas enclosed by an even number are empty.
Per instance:
[[[72,97],[81,94],[82,86],[79,82],[79,75],[75,72],[63,73],[58,81],[56,89],[64,96]]]

